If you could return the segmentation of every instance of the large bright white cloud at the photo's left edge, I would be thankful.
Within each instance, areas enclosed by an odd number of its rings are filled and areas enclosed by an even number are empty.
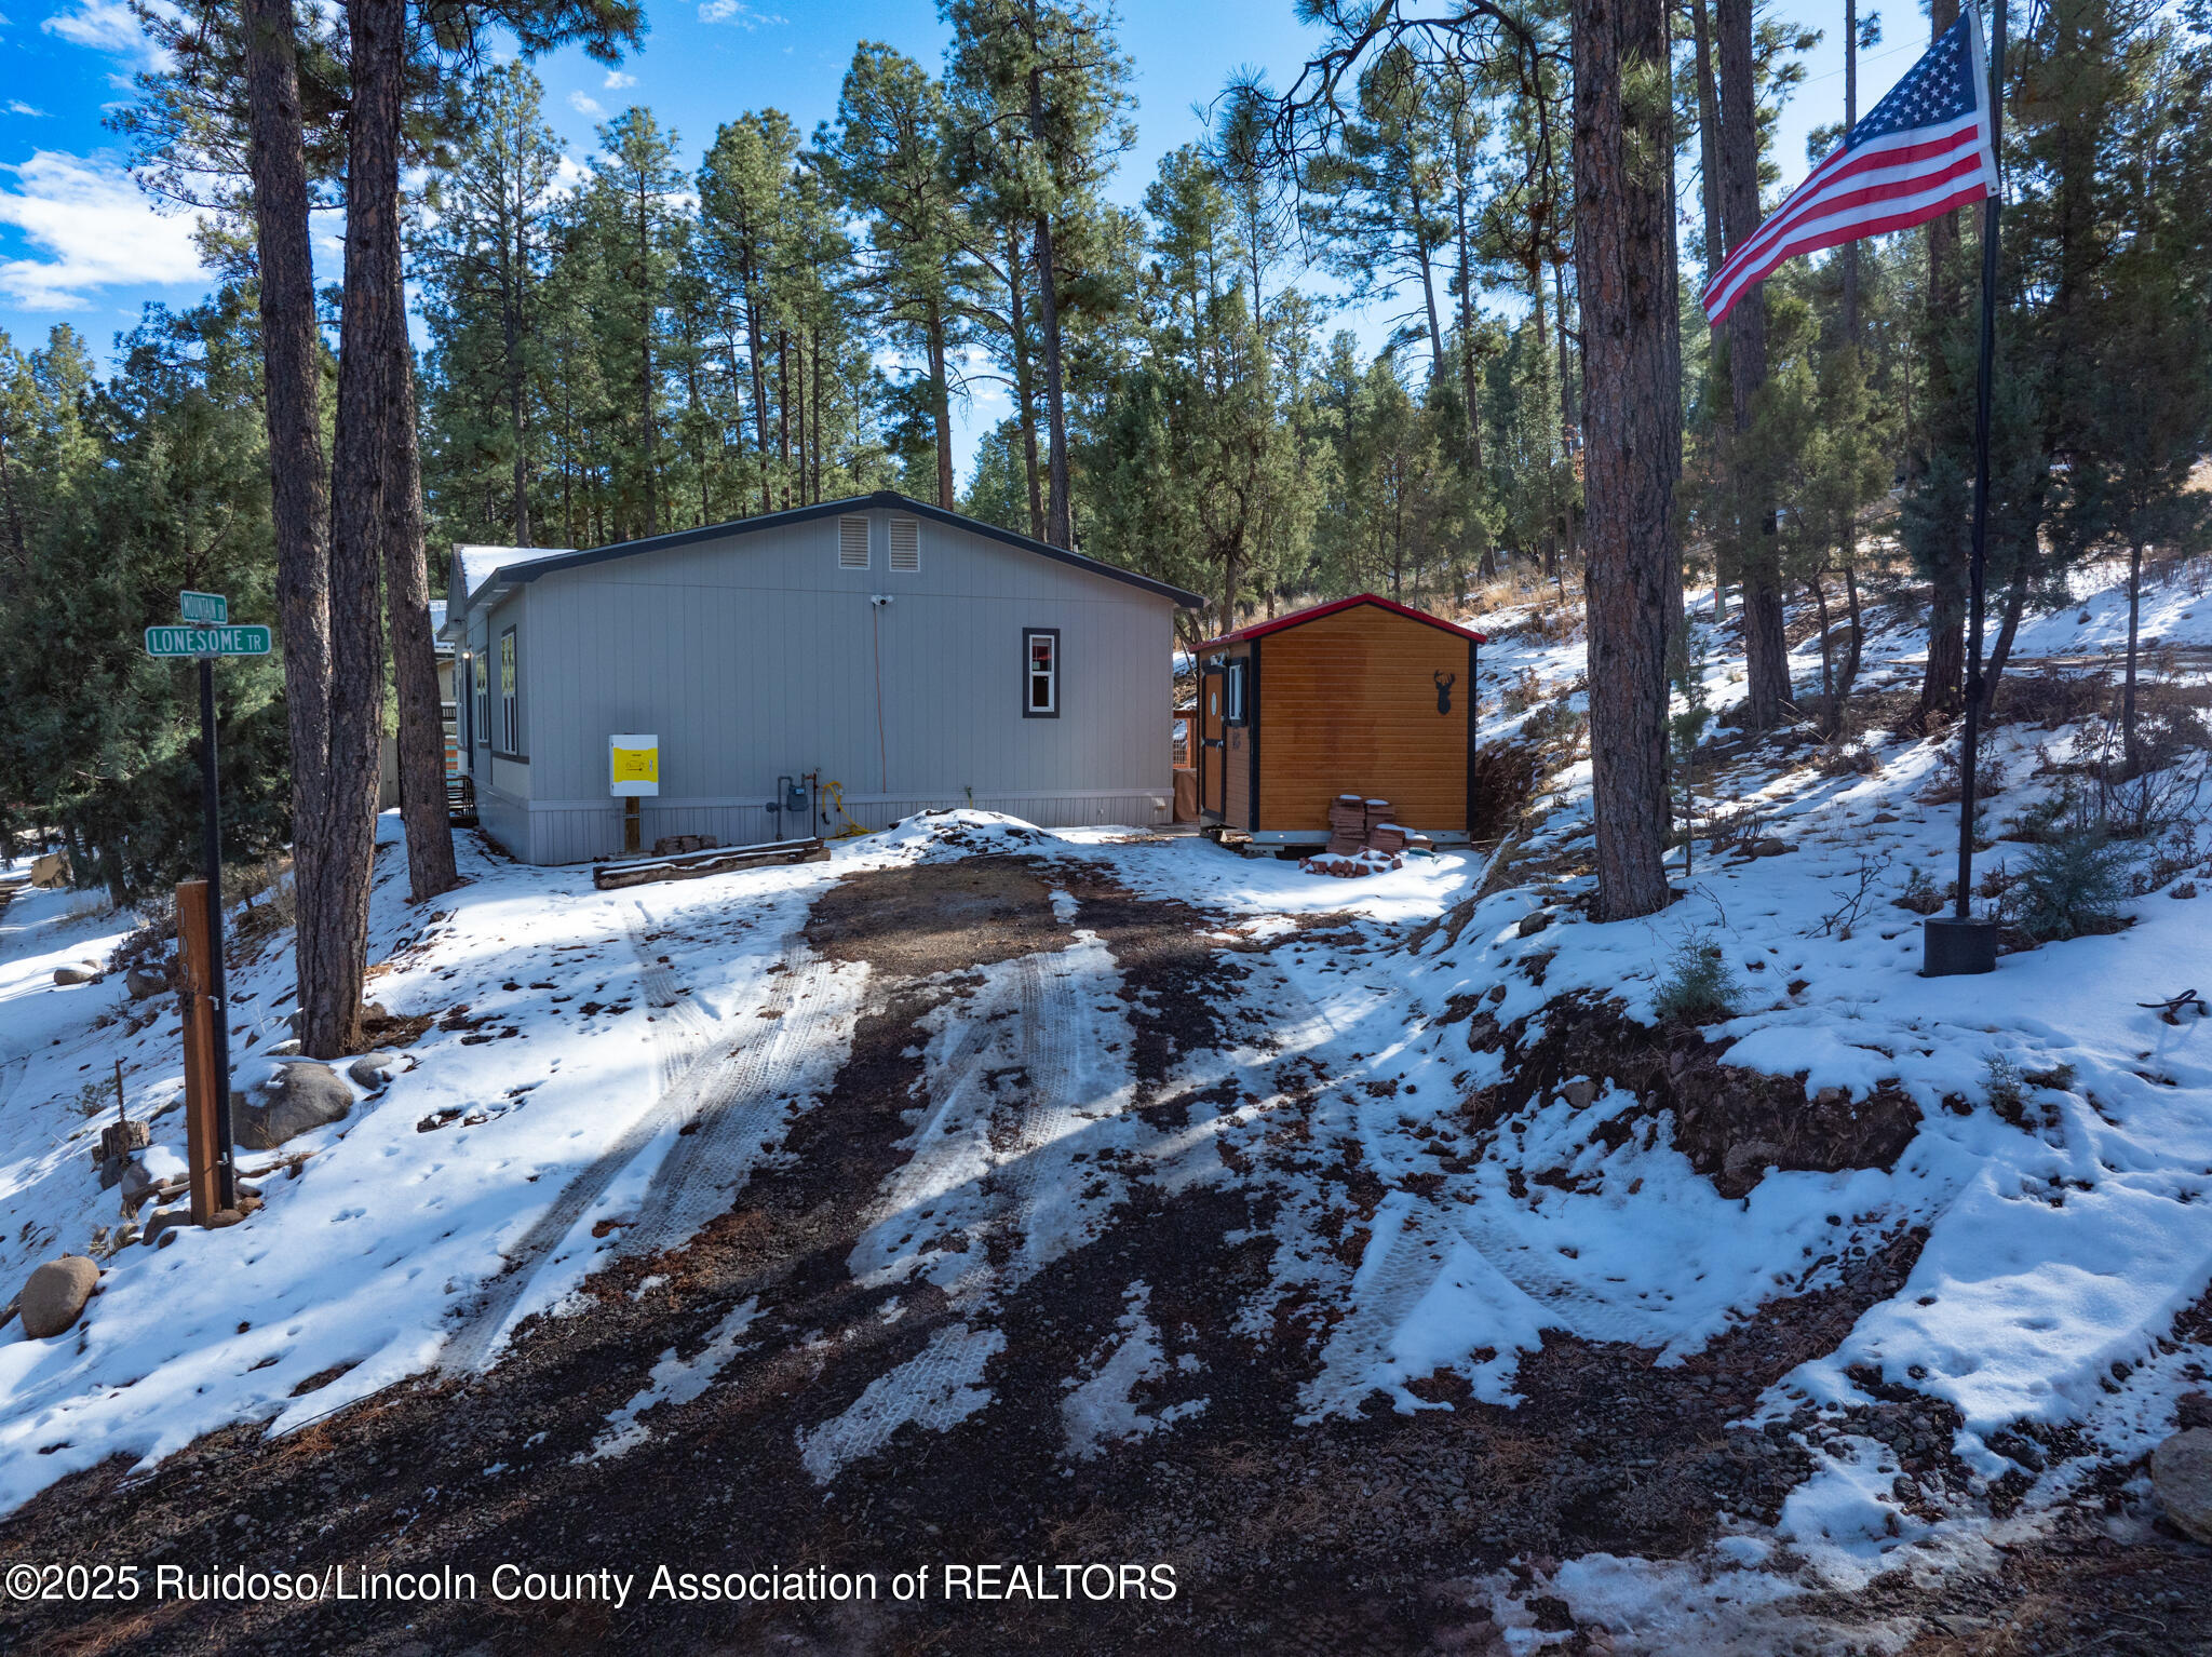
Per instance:
[[[195,221],[155,212],[117,161],[35,150],[0,186],[0,223],[15,226],[38,257],[0,259],[0,294],[24,310],[82,310],[86,290],[199,283]]]

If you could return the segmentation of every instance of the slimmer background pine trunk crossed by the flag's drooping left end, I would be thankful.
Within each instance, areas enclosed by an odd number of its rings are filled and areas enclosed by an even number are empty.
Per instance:
[[[1752,0],[1719,0],[1721,27],[1721,228],[1736,248],[1759,230],[1759,80],[1752,69]],[[1743,723],[1767,730],[1790,699],[1783,637],[1781,551],[1765,467],[1752,460],[1752,405],[1767,381],[1767,299],[1754,285],[1728,312],[1728,392],[1736,440],[1732,471],[1743,538]]]

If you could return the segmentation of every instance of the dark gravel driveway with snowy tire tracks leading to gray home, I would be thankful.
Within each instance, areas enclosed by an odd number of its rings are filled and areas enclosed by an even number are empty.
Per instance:
[[[1274,947],[1321,936],[1391,947]],[[1686,1365],[1553,1338],[1517,1409],[1440,1374],[1429,1409],[1314,1420],[1387,1190],[1267,947],[1064,854],[849,876],[792,949],[865,967],[858,1022],[719,1217],[480,1363],[55,1484],[0,1564],[135,1560],[184,1597],[7,1604],[0,1646],[1482,1653],[1504,1619],[1608,1650],[1544,1573],[1772,1520],[1803,1451],[1730,1422],[1916,1248]]]

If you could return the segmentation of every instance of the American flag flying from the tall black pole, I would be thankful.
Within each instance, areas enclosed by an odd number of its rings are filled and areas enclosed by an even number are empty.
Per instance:
[[[1969,4],[1927,55],[1889,88],[1867,119],[1781,204],[1730,248],[1705,288],[1714,325],[1754,283],[1801,252],[1840,248],[1924,223],[1997,188],[1989,144],[1989,71]]]

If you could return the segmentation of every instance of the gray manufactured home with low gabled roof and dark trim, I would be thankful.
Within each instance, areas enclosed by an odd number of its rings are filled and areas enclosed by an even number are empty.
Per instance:
[[[484,830],[582,863],[622,852],[615,734],[659,737],[648,847],[929,805],[1166,823],[1175,611],[1199,602],[876,493],[593,551],[458,546],[442,637]],[[825,825],[770,810],[810,772],[841,801]]]

